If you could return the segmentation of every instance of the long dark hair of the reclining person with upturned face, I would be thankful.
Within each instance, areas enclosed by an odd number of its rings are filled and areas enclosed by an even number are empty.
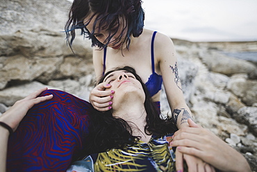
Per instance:
[[[158,114],[154,103],[151,101],[151,96],[147,91],[147,87],[142,82],[140,76],[135,73],[135,69],[131,67],[117,68],[112,71],[108,71],[100,80],[102,83],[104,78],[113,71],[125,70],[135,76],[140,81],[145,93],[144,108],[147,112],[147,125],[144,127],[144,131],[147,135],[156,135],[162,137],[169,133],[173,133],[177,130],[176,125],[172,119],[167,117],[161,119]],[[125,148],[127,145],[133,145],[140,139],[139,136],[132,135],[132,129],[128,125],[128,122],[121,118],[113,117],[112,110],[106,112],[98,112],[93,114],[90,119],[89,134],[86,140],[88,145],[85,146],[85,154],[99,153],[111,148]]]

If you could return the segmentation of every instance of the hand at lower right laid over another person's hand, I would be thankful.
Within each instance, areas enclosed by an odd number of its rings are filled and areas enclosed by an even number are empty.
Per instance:
[[[244,157],[213,132],[202,128],[191,119],[188,119],[188,123],[190,128],[175,132],[170,143],[178,146],[177,153],[199,157],[222,171],[251,171]]]

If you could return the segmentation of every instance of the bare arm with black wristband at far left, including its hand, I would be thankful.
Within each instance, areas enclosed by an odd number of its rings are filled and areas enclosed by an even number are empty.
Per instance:
[[[47,88],[40,89],[26,98],[17,101],[9,110],[3,113],[0,117],[0,121],[6,123],[10,128],[15,131],[19,126],[19,122],[22,121],[26,112],[42,101],[47,101],[53,97],[53,95],[38,97],[38,95]],[[7,155],[7,143],[10,135],[9,131],[3,126],[0,126],[0,171],[6,171],[6,155]]]

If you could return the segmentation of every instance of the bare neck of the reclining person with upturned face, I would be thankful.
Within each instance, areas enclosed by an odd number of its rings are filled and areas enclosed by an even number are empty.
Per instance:
[[[140,136],[141,140],[148,142],[151,135],[144,132],[144,127],[147,125],[147,112],[142,103],[124,103],[118,110],[113,111],[113,117],[124,119],[132,129],[133,136]]]

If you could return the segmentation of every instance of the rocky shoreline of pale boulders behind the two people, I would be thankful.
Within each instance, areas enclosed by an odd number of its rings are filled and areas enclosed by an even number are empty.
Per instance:
[[[88,100],[94,87],[92,49],[82,36],[74,42],[75,54],[67,46],[61,31],[69,6],[65,0],[0,4],[0,114],[44,86]],[[257,42],[172,40],[195,121],[240,151],[257,171],[257,65],[229,56],[256,53]],[[161,110],[170,114],[164,92]]]

